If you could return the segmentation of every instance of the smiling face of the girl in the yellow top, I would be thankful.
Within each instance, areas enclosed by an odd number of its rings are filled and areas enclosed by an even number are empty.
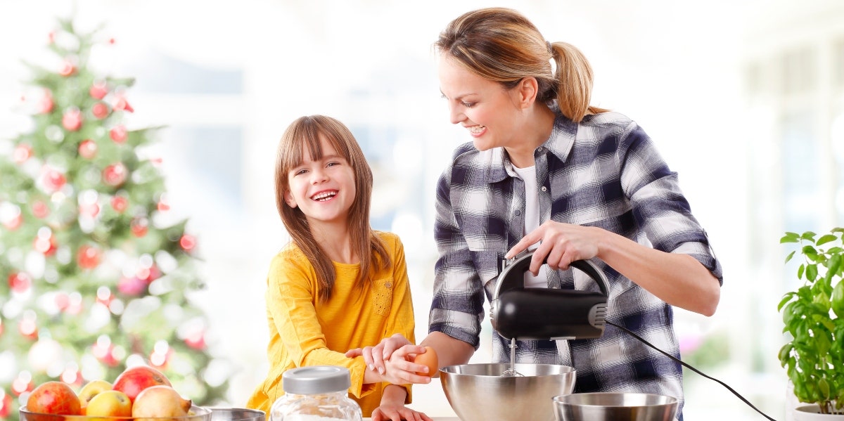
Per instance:
[[[319,138],[322,157],[313,160],[310,153],[302,154],[302,162],[287,173],[284,202],[305,214],[311,230],[321,224],[345,227],[356,194],[354,169],[331,142]]]

